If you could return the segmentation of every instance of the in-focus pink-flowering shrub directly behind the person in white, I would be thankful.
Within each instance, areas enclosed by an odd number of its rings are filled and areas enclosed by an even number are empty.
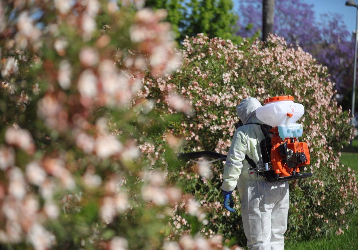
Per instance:
[[[176,110],[185,113],[168,127],[170,134],[185,141],[180,150],[225,154],[238,120],[235,107],[242,99],[252,96],[263,102],[267,97],[291,95],[305,107],[299,120],[304,124],[301,141],[310,148],[311,164],[305,171],[313,176],[290,182],[286,237],[309,239],[340,234],[348,228],[357,209],[358,190],[353,171],[339,163],[339,151],[352,139],[353,131],[348,113],[332,100],[334,84],[326,67],[276,36],[266,44],[256,41],[236,46],[229,40],[199,34],[184,40],[183,46],[182,68],[167,79],[148,77],[140,94],[154,100],[155,109],[172,114],[177,112],[173,110],[174,99]],[[183,99],[179,100],[179,95]],[[159,143],[154,147],[160,155]],[[168,175],[185,193],[194,194],[198,207],[206,212],[201,227],[195,230],[205,235],[222,234],[245,244],[240,212],[230,214],[221,205],[222,172],[223,164],[183,162],[180,171],[169,171]],[[194,230],[186,223],[190,214],[178,206],[174,225],[183,232]],[[240,209],[238,199],[236,208]]]

